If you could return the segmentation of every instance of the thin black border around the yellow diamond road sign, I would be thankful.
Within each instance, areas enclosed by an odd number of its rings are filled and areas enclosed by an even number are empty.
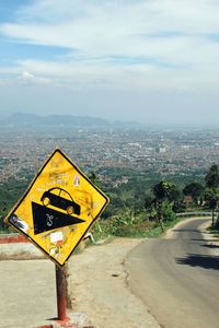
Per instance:
[[[101,211],[96,214],[96,216],[93,219],[92,223],[88,226],[88,229],[85,230],[85,232],[83,233],[83,235],[81,236],[81,238],[79,239],[79,242],[77,243],[77,245],[72,248],[71,253],[69,254],[69,256],[67,257],[67,259],[65,260],[65,262],[61,265],[59,263],[55,258],[50,257],[49,254],[43,248],[41,247],[30,235],[27,235],[25,232],[23,232],[22,230],[19,230],[14,224],[12,224],[9,221],[9,218],[16,211],[16,209],[20,207],[20,204],[23,202],[23,200],[25,199],[25,197],[28,195],[28,192],[31,191],[32,187],[34,186],[35,181],[37,180],[38,176],[42,174],[42,172],[44,171],[45,166],[49,163],[49,161],[53,159],[53,156],[56,153],[60,153],[73,167],[76,171],[78,171],[80,173],[80,175],[82,175],[87,181],[92,185],[96,191],[99,191],[104,198],[105,198],[105,203],[102,207]],[[20,233],[22,233],[25,237],[27,237],[37,248],[39,248],[50,260],[53,260],[56,265],[58,265],[59,267],[64,267],[66,265],[66,262],[68,261],[69,257],[72,255],[73,250],[77,248],[77,246],[81,243],[81,241],[83,239],[84,235],[87,234],[87,232],[91,229],[91,226],[93,225],[93,223],[96,221],[96,219],[101,215],[101,213],[104,211],[105,207],[107,206],[107,203],[110,202],[110,199],[106,195],[103,194],[103,191],[101,191],[87,176],[85,174],[82,173],[82,171],[59,149],[55,149],[55,151],[51,153],[51,155],[48,157],[48,160],[43,164],[42,168],[38,171],[38,173],[36,174],[36,176],[34,177],[34,179],[32,180],[32,183],[30,184],[30,186],[27,187],[26,191],[24,192],[23,197],[18,201],[18,203],[14,206],[14,208],[9,212],[9,214],[7,215],[7,218],[4,219],[4,221],[12,225],[15,230],[18,230]]]

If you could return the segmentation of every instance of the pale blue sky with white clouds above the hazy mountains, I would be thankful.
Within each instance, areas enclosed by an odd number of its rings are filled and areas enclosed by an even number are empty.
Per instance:
[[[218,0],[0,0],[0,115],[219,125]]]

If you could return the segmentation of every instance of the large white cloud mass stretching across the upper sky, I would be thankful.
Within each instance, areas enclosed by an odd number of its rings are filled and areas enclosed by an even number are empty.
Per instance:
[[[33,72],[26,82],[45,77],[70,86],[218,89],[219,43],[209,37],[219,35],[216,0],[39,0],[0,33],[70,50],[61,61],[18,60],[16,72]]]

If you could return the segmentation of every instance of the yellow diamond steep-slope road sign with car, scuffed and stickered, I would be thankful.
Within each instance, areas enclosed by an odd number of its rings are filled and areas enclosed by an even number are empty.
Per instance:
[[[64,266],[108,198],[59,150],[55,150],[7,222]]]

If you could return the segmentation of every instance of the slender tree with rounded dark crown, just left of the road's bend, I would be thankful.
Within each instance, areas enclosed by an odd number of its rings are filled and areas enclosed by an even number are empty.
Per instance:
[[[172,194],[173,189],[174,189],[174,185],[171,184],[170,181],[165,181],[165,180],[161,180],[159,184],[157,184],[152,187],[152,192],[154,196],[153,203],[155,206],[157,218],[158,218],[158,222],[160,224],[162,232],[164,231],[164,229],[163,229],[163,207],[168,200],[170,201],[171,196],[173,195]]]

